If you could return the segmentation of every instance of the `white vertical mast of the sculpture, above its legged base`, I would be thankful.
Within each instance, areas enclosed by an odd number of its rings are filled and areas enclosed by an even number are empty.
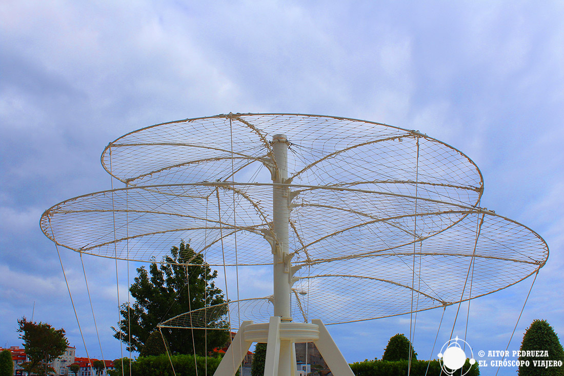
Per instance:
[[[285,134],[272,136],[275,169],[272,182],[288,180],[288,139]],[[290,274],[288,259],[289,189],[275,185],[272,189],[272,227],[275,233],[274,253],[274,316],[290,319]]]

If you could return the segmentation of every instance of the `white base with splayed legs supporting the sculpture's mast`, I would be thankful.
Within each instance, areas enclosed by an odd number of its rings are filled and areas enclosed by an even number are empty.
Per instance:
[[[321,320],[311,323],[280,321],[272,316],[269,323],[243,321],[214,376],[234,376],[253,342],[266,342],[265,376],[294,376],[294,343],[313,342],[335,376],[354,376]]]

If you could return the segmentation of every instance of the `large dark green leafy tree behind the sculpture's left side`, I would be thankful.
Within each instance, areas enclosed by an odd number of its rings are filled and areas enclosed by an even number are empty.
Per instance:
[[[226,303],[223,292],[213,282],[217,270],[212,272],[204,258],[184,241],[179,247],[171,248],[170,256],[164,257],[160,266],[152,263],[148,272],[141,266],[137,273],[129,288],[135,303],[121,306],[123,318],[118,322],[119,330],[112,327],[114,337],[126,343],[130,351],[140,352],[158,323],[191,310]],[[225,305],[218,314],[210,314],[205,325],[227,329],[226,316]],[[169,341],[170,351],[181,354],[193,354],[195,349],[197,355],[205,355],[206,347],[208,351],[223,347],[229,336],[227,330],[167,328],[162,331]]]

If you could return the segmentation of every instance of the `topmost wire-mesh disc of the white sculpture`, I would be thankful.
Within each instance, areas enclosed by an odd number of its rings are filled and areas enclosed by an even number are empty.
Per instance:
[[[275,164],[270,141],[280,133],[290,142],[293,183],[372,183],[464,204],[482,193],[478,168],[455,148],[413,130],[330,116],[237,113],[158,124],[109,143],[102,164],[129,185],[270,182],[263,167]]]

